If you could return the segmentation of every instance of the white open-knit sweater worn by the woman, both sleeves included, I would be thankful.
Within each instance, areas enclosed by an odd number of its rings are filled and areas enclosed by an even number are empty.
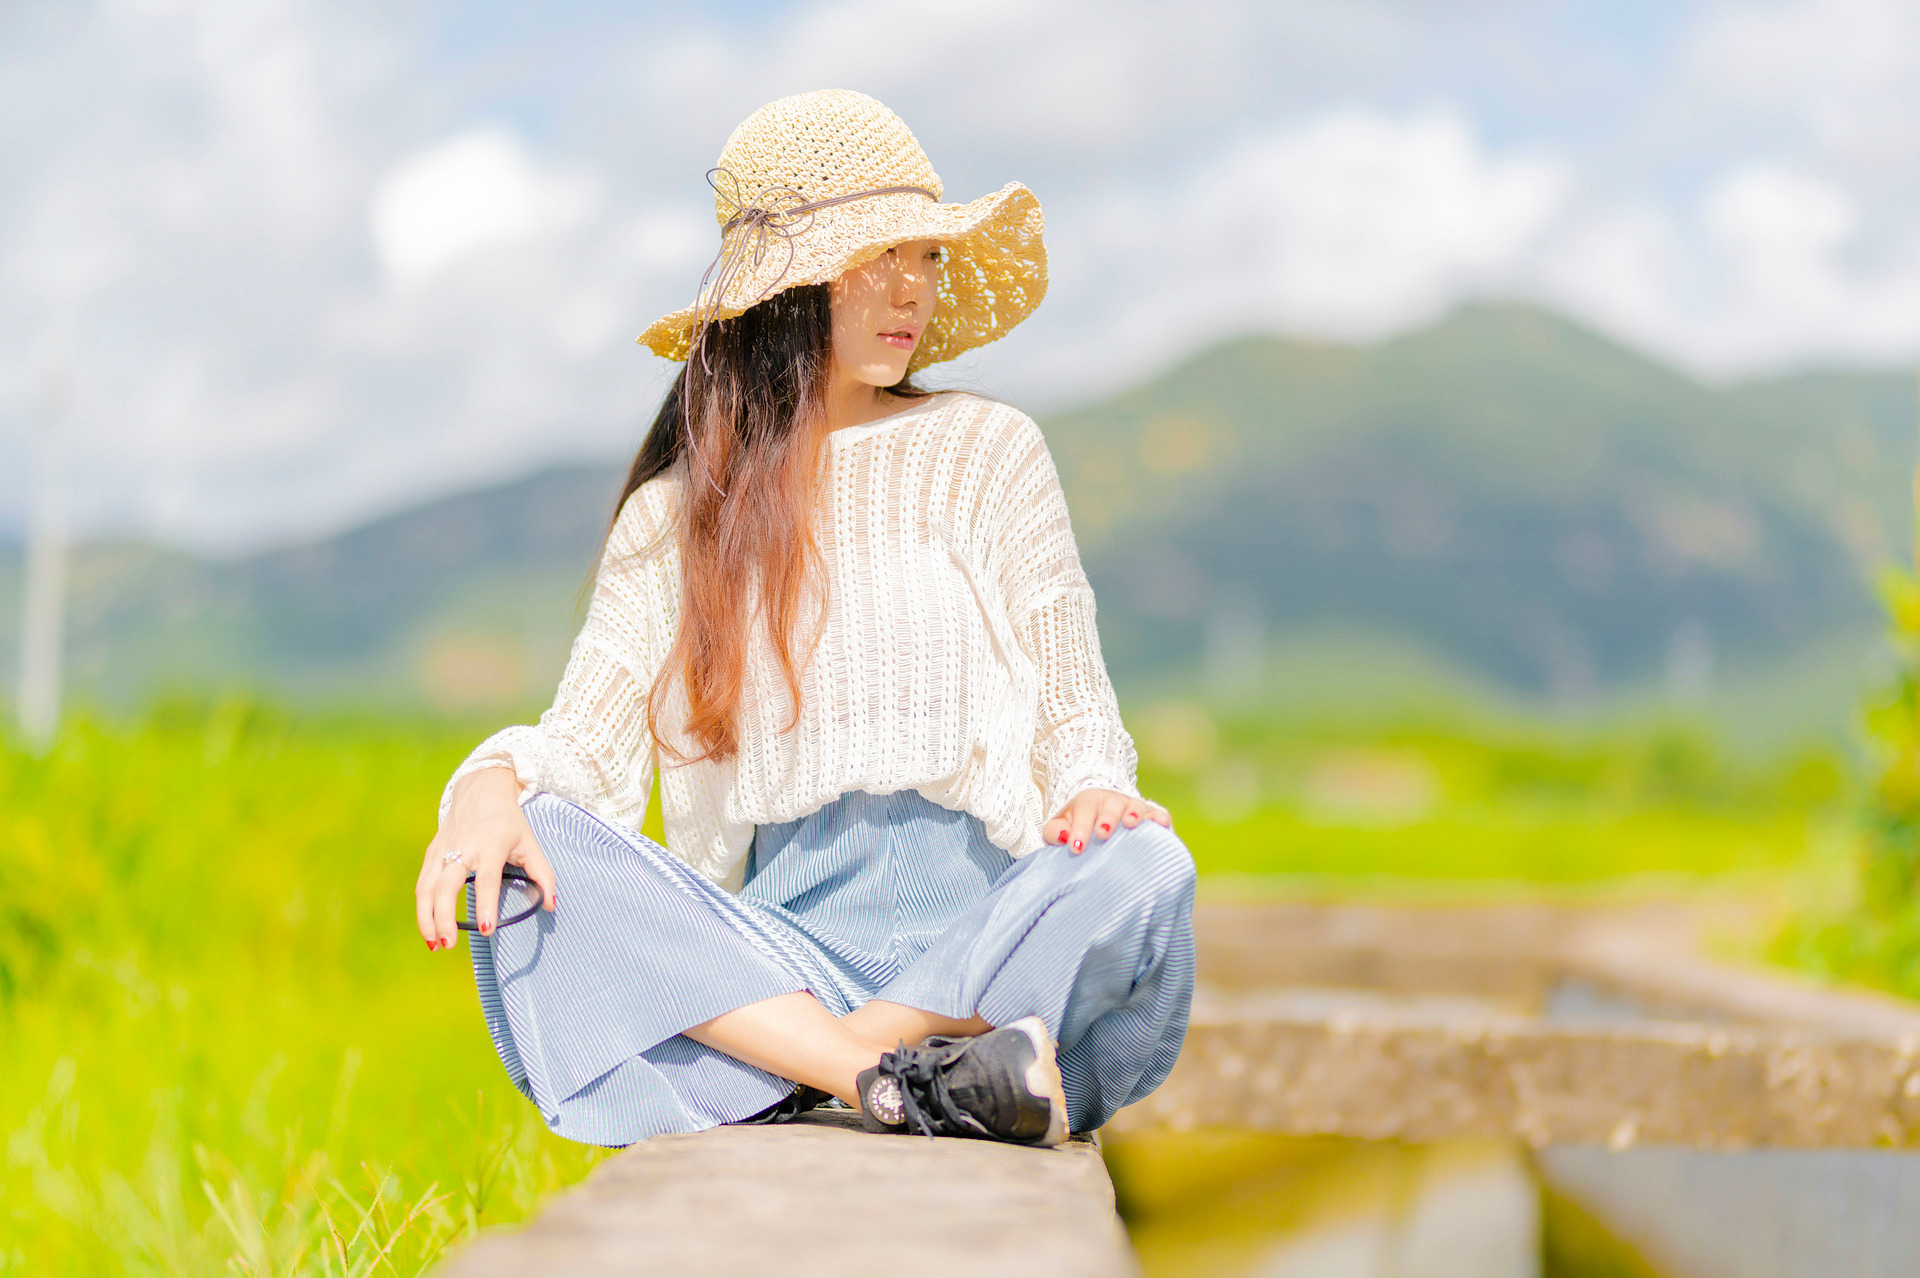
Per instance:
[[[660,773],[666,846],[733,887],[755,825],[797,819],[847,791],[914,789],[972,812],[993,842],[1025,856],[1081,791],[1137,794],[1092,589],[1033,420],[945,393],[828,439],[818,522],[828,606],[801,674],[799,723],[780,731],[787,685],[756,629],[739,754],[668,760]],[[453,781],[511,766],[522,794],[553,793],[639,827],[660,756],[645,698],[680,620],[682,474],[655,478],[622,509],[553,708],[538,725],[488,737]],[[810,604],[803,618],[812,616]],[[680,681],[668,689],[660,731],[699,754],[678,735]]]

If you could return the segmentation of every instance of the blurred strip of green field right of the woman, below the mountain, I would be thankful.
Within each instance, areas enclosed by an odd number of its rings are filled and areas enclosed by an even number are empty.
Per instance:
[[[1135,716],[1142,791],[1175,812],[1204,875],[1290,890],[1707,885],[1797,873],[1845,798],[1826,750],[1730,762],[1684,727],[1567,737],[1354,731]],[[1156,758],[1158,754],[1158,758]]]

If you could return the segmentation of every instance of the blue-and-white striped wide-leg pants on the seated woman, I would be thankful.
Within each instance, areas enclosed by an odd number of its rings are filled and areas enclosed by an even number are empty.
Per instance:
[[[551,794],[526,817],[563,908],[468,933],[474,979],[507,1075],[570,1140],[697,1132],[781,1100],[789,1080],[682,1030],[795,990],[835,1015],[870,998],[1039,1015],[1075,1130],[1160,1086],[1187,1034],[1194,865],[1152,821],[1014,860],[970,814],[854,791],[760,825],[735,896]]]

